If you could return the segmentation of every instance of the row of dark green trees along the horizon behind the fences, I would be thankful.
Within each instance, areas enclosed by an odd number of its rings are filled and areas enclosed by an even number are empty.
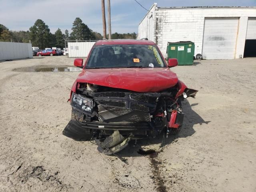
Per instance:
[[[54,34],[50,32],[48,25],[41,19],[36,20],[33,26],[27,31],[12,31],[0,24],[0,41],[32,43],[32,46],[44,49],[46,47],[65,47],[65,40],[99,40],[102,35],[91,30],[80,18],[73,22],[72,32],[69,34],[66,29],[64,34],[58,28]],[[136,39],[136,33],[111,34],[112,39]]]

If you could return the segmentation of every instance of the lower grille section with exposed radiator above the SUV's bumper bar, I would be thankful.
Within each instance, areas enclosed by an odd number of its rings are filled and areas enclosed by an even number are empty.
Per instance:
[[[100,120],[104,122],[142,122],[150,121],[150,114],[125,108],[98,105]]]

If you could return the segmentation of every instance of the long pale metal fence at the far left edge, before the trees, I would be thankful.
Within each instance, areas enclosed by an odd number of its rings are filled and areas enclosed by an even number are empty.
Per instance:
[[[0,60],[33,58],[30,43],[0,42]]]

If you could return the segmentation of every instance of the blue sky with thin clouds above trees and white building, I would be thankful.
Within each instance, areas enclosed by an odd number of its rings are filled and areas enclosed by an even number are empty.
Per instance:
[[[146,9],[171,6],[256,6],[256,0],[137,0]],[[138,32],[147,11],[135,0],[110,0],[112,33]],[[105,0],[108,23],[107,0]],[[76,17],[102,34],[101,0],[0,0],[0,24],[10,30],[29,30],[42,19],[54,33],[58,28],[71,32]],[[108,27],[108,26],[107,26]],[[107,28],[108,31],[108,28]]]

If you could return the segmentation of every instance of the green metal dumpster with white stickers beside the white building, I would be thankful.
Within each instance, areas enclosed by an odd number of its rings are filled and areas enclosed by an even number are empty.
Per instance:
[[[178,65],[193,65],[195,44],[191,41],[168,42],[168,58],[178,59]]]

